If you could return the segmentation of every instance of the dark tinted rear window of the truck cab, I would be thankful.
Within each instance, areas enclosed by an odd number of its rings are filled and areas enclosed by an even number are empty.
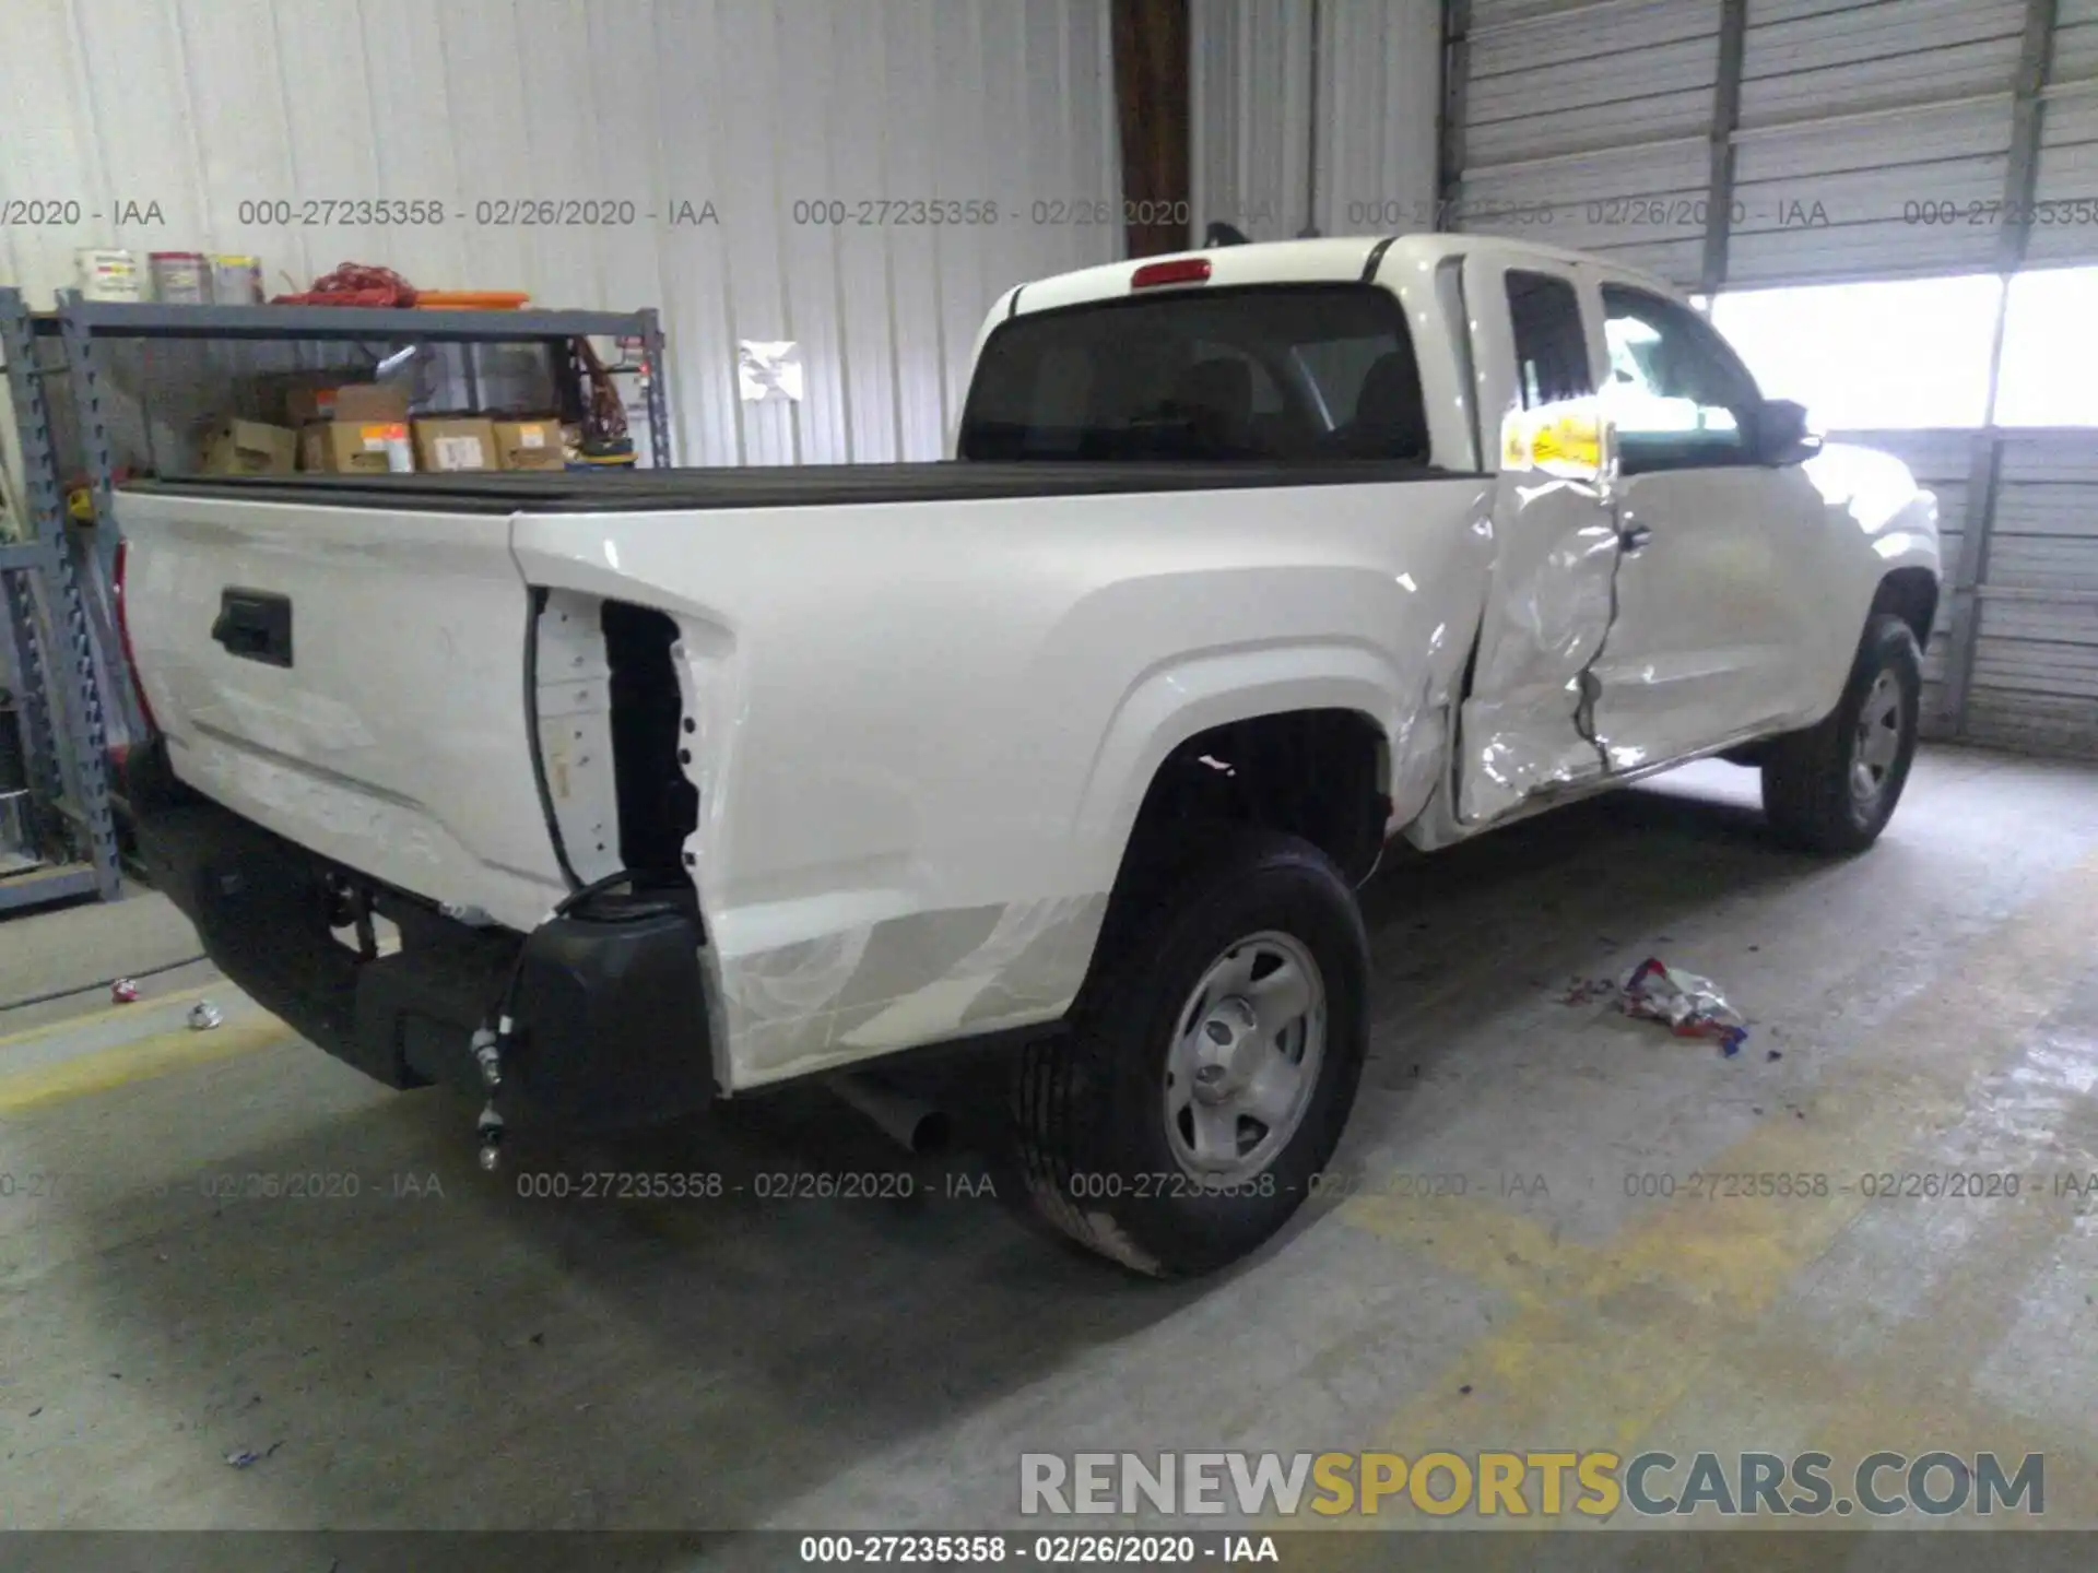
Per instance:
[[[1374,285],[1202,289],[1015,317],[963,459],[1429,457],[1406,317]]]

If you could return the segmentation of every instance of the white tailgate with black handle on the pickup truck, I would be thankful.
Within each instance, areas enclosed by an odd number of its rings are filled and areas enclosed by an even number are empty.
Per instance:
[[[531,927],[566,889],[508,514],[120,493],[174,774],[336,862]]]

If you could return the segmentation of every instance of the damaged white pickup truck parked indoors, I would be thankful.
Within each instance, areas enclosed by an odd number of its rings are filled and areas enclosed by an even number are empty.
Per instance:
[[[1332,1154],[1387,839],[1727,755],[1857,852],[1939,598],[1930,493],[1668,285],[1462,235],[1011,289],[955,461],[117,520],[149,864],[319,1047],[493,1143],[999,1044],[1034,1208],[1150,1273]]]

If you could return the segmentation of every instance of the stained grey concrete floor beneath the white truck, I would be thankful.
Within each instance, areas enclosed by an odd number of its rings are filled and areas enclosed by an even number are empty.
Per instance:
[[[820,1095],[617,1151],[524,1141],[491,1179],[470,1107],[252,1009],[187,1034],[174,988],[31,1021],[0,1042],[4,1518],[1018,1527],[1028,1449],[1819,1445],[2046,1451],[2048,1523],[2098,1527],[2092,1204],[1857,1185],[2098,1170],[2098,770],[1926,751],[1886,839],[1836,866],[1775,849],[1752,803],[1748,772],[1695,768],[1389,866],[1341,1154],[1383,1193],[1196,1286],[944,1195],[982,1164],[913,1164]],[[86,977],[189,944],[151,896],[17,919],[6,996],[61,931]],[[1557,1000],[1649,952],[1754,1019],[1739,1057]],[[936,1193],[516,1193],[554,1166],[902,1166]],[[1769,1170],[1832,1187],[1687,1193]],[[21,1193],[50,1172],[55,1198]],[[361,1193],[208,1193],[279,1172]],[[1676,1198],[1628,1200],[1664,1172]],[[264,1458],[229,1468],[241,1447]]]

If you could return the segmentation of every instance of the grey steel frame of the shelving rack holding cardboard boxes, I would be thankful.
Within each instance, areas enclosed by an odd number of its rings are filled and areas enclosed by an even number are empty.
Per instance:
[[[355,342],[355,344],[539,344],[548,350],[564,413],[587,401],[581,338],[640,340],[650,466],[671,466],[663,323],[655,310],[415,310],[369,306],[180,306],[59,296],[31,313],[19,289],[0,287],[0,352],[21,440],[25,535],[0,541],[6,644],[15,713],[23,734],[29,812],[27,847],[48,862],[0,877],[0,912],[78,896],[122,891],[111,730],[143,736],[138,701],[117,648],[111,573],[115,453],[103,417],[103,340]],[[59,346],[59,359],[40,346]],[[65,472],[50,426],[52,382],[69,384],[80,432],[80,470],[94,499],[92,531],[73,531]],[[468,357],[468,386],[474,361]],[[111,715],[111,709],[115,715]],[[115,721],[115,728],[111,728]]]

